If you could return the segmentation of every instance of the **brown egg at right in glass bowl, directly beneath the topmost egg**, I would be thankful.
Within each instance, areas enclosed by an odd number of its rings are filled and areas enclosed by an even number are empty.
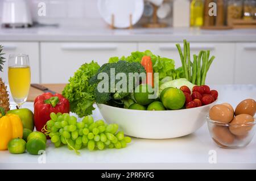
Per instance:
[[[241,115],[237,115],[234,117],[234,119],[231,121],[229,130],[233,134],[236,134],[237,136],[242,136],[247,134],[251,128],[253,128],[253,125],[242,125],[246,123],[251,123],[254,121],[253,116],[247,115],[245,113]]]

